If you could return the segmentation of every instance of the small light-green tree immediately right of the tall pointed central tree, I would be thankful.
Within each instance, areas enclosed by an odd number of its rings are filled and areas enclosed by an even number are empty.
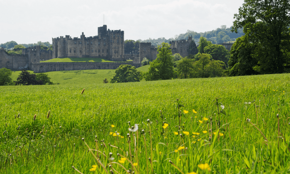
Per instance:
[[[177,75],[180,79],[192,78],[193,59],[182,58],[177,64]]]

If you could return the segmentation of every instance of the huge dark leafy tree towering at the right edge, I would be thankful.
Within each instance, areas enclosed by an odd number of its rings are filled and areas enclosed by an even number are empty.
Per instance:
[[[234,19],[231,31],[244,27],[245,40],[255,46],[255,69],[283,73],[290,64],[290,0],[245,0]]]

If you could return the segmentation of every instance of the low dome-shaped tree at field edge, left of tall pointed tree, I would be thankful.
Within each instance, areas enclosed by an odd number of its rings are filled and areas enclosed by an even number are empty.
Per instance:
[[[115,70],[113,78],[110,83],[124,83],[124,82],[135,82],[140,81],[140,73],[135,66],[132,65],[120,65]]]

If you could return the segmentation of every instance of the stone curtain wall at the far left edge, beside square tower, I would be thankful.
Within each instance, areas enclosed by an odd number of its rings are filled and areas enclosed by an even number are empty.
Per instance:
[[[0,49],[0,68],[28,70],[28,67],[28,55],[8,55],[4,49]]]

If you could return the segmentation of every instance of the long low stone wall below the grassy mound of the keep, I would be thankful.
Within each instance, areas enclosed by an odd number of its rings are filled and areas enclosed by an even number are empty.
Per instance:
[[[120,65],[132,65],[136,68],[140,67],[141,64],[134,63],[97,63],[97,62],[58,62],[58,63],[37,63],[31,64],[30,70],[34,73],[45,73],[50,71],[71,71],[71,70],[98,70],[98,69],[117,69]]]

